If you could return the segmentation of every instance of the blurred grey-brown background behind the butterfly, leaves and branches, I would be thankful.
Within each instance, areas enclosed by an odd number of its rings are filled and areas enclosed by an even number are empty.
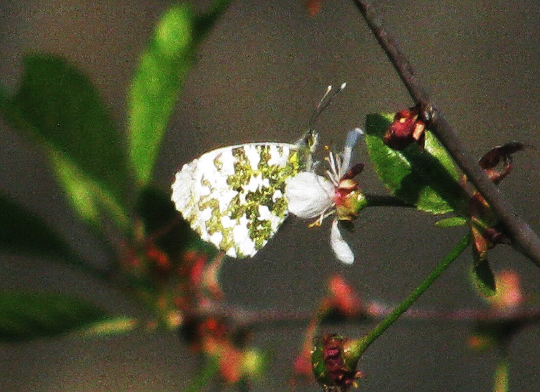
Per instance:
[[[210,2],[194,2],[204,10]],[[0,78],[15,90],[22,56],[52,52],[92,80],[111,116],[125,126],[126,93],[141,50],[168,3],[161,1],[0,1]],[[524,1],[377,1],[420,80],[450,123],[480,157],[510,140],[537,145],[540,123],[540,5]],[[298,139],[328,84],[347,89],[320,118],[322,144],[340,145],[372,112],[411,105],[399,77],[350,1],[328,0],[314,17],[301,1],[235,1],[200,47],[181,94],[154,172],[167,190],[187,161],[220,146]],[[87,260],[104,262],[103,249],[64,200],[35,146],[0,122],[0,188],[38,211]],[[356,156],[366,159],[360,144]],[[540,154],[519,153],[505,195],[540,231],[537,168]],[[360,176],[369,193],[385,193],[373,168]],[[464,229],[438,229],[437,217],[395,208],[369,208],[347,236],[356,261],[342,265],[329,248],[329,222],[308,229],[289,219],[258,255],[228,259],[221,271],[227,301],[252,309],[313,309],[332,273],[341,273],[366,299],[399,303],[461,238]],[[495,271],[516,269],[531,299],[540,270],[511,249],[490,252]],[[483,306],[470,285],[469,252],[421,298],[418,306]],[[82,295],[114,314],[144,314],[133,299],[53,259],[0,255],[3,288]],[[325,330],[360,336],[370,325]],[[400,321],[360,362],[368,379],[360,390],[489,391],[493,352],[474,353],[467,323]],[[271,349],[267,374],[255,391],[290,390],[303,328],[258,330],[253,342]],[[512,390],[537,390],[540,328],[512,342]],[[2,344],[4,392],[179,391],[199,362],[176,333],[132,333],[112,338],[56,338]],[[314,384],[299,390],[320,390]]]

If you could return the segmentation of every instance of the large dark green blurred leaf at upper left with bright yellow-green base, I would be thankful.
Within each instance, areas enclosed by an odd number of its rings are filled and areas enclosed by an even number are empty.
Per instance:
[[[119,225],[129,177],[117,127],[97,91],[73,65],[52,55],[24,58],[21,86],[4,114],[49,153],[76,211],[98,224],[98,206]]]

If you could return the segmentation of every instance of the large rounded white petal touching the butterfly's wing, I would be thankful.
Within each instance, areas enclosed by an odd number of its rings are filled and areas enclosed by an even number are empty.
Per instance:
[[[334,204],[334,185],[320,175],[301,172],[286,182],[285,198],[288,209],[297,217],[319,217]]]

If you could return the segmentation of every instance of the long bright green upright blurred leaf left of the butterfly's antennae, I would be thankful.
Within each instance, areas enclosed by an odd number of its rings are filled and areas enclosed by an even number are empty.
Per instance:
[[[138,183],[149,183],[161,139],[195,62],[198,45],[230,1],[217,1],[196,16],[189,4],[172,5],[144,50],[129,94],[129,159]]]

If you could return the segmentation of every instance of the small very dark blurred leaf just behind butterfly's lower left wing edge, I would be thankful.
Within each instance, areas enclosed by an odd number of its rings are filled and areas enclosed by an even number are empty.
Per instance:
[[[158,188],[145,187],[140,191],[136,211],[143,221],[147,238],[152,238],[171,260],[178,260],[189,248],[200,249],[210,258],[217,253],[217,248],[201,240],[181,217],[170,195]]]

